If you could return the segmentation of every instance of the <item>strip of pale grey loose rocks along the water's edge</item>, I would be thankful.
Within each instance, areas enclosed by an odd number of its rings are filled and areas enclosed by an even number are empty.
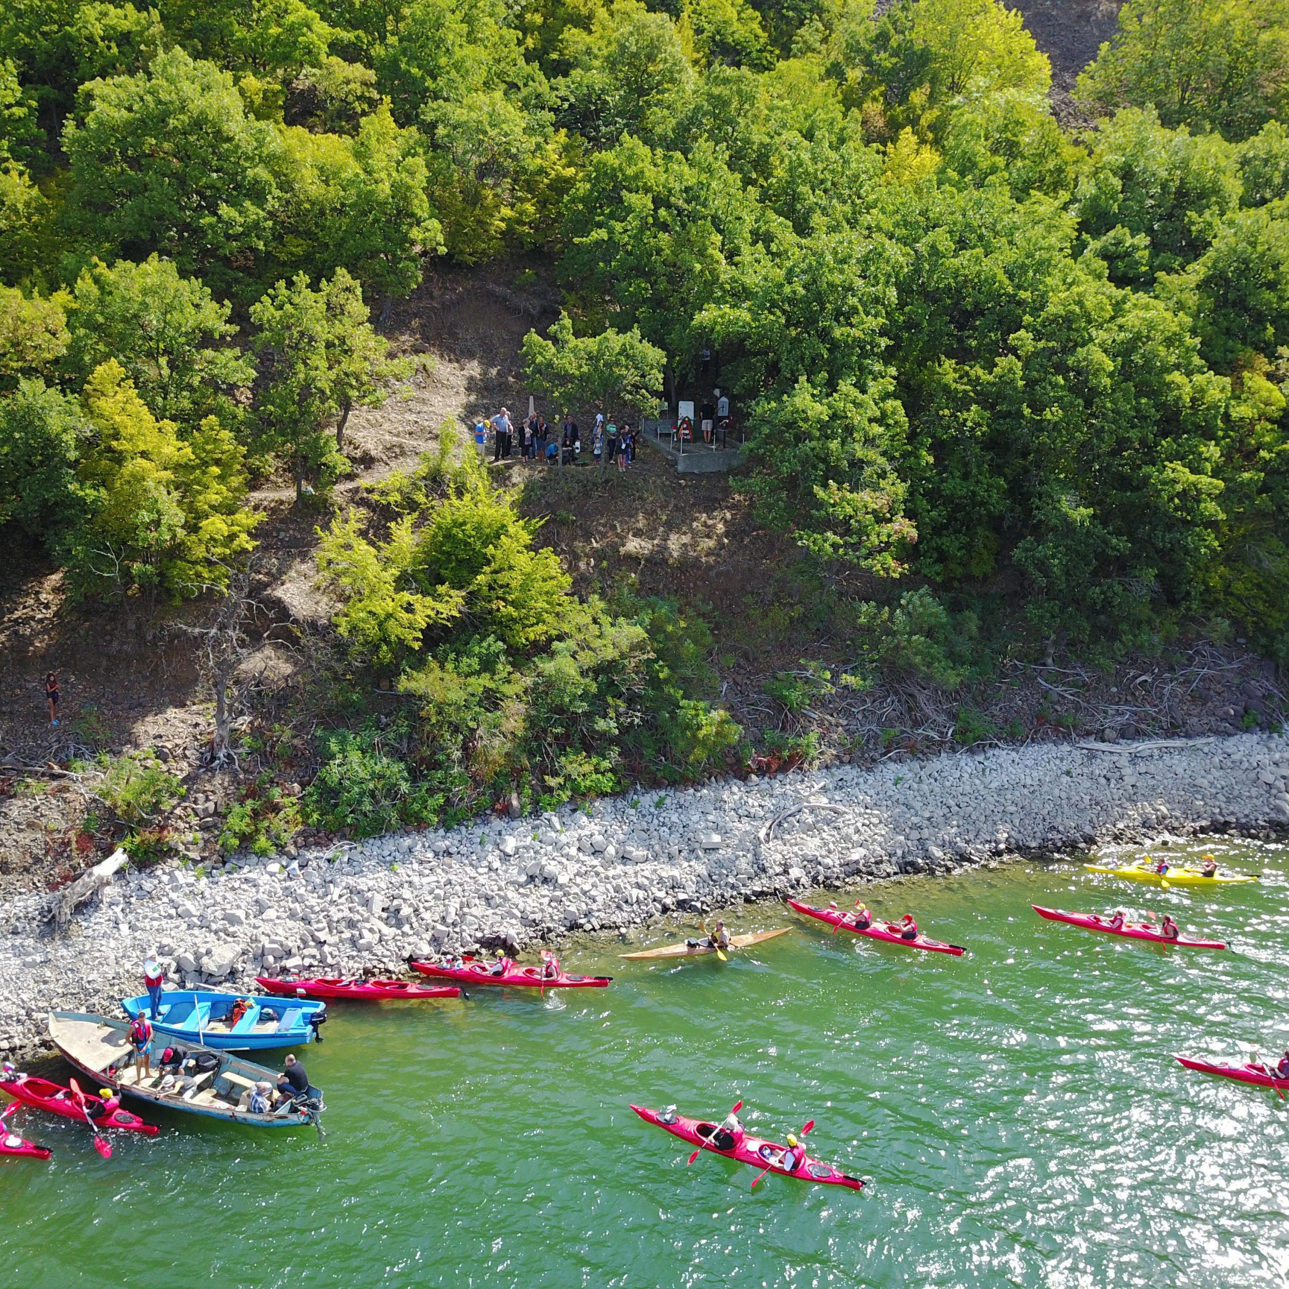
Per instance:
[[[946,873],[1017,851],[1289,824],[1279,735],[995,749],[599,800],[391,834],[294,860],[129,873],[57,931],[49,895],[0,904],[0,1053],[52,1008],[117,1014],[157,950],[175,986],[282,967],[401,971],[816,886]]]

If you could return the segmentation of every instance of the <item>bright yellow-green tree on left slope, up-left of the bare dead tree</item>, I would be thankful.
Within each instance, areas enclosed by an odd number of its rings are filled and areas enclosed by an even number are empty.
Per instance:
[[[241,446],[213,416],[180,438],[115,360],[81,397],[95,442],[77,469],[90,513],[70,543],[73,585],[171,599],[223,585],[259,522],[246,508]]]

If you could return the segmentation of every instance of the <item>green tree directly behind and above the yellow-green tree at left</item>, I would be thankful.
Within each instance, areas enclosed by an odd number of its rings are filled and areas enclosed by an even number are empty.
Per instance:
[[[76,384],[116,358],[139,397],[162,420],[193,427],[233,415],[231,394],[251,384],[254,365],[228,342],[231,305],[156,254],[142,264],[95,260],[67,296],[71,331],[64,370]]]

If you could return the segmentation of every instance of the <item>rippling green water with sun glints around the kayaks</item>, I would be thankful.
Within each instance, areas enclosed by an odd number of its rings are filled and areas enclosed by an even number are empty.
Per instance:
[[[1160,892],[1013,862],[874,888],[963,958],[794,924],[722,965],[566,965],[607,990],[335,1004],[303,1053],[327,1139],[166,1118],[113,1137],[21,1111],[48,1164],[0,1159],[4,1283],[23,1289],[1284,1285],[1289,1102],[1174,1052],[1289,1043],[1279,847],[1213,843],[1257,887]],[[1227,953],[1040,920],[1170,910]],[[683,932],[682,932],[683,935]],[[652,928],[647,944],[679,938]],[[66,1074],[66,1070],[63,1070]],[[687,1148],[628,1103],[817,1127],[860,1194]]]

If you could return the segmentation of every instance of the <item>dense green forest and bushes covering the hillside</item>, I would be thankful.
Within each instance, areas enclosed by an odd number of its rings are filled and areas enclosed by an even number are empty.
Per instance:
[[[410,371],[391,302],[540,253],[535,388],[644,402],[713,347],[759,519],[891,588],[874,672],[955,683],[998,601],[1035,647],[1289,660],[1289,0],[1130,0],[1088,124],[1049,88],[996,0],[9,0],[0,522],[80,596],[209,594],[250,481],[325,510]],[[419,701],[416,791],[330,749],[394,816],[736,742],[701,628],[577,601],[473,463],[320,522],[351,663]]]

